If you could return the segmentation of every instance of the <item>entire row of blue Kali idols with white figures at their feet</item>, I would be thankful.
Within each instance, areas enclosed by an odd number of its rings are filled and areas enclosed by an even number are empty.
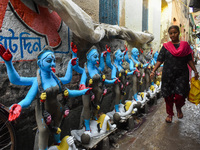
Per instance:
[[[150,71],[157,61],[158,52],[153,54],[151,50],[144,55],[139,53],[137,48],[133,48],[131,57],[129,57],[128,49],[125,46],[124,51],[118,49],[113,52],[113,61],[111,61],[110,47],[106,46],[106,51],[99,56],[97,48],[92,46],[86,53],[87,62],[84,67],[80,67],[77,47],[72,43],[71,48],[72,59],[68,62],[64,77],[58,77],[55,74],[56,58],[49,46],[44,47],[37,56],[37,76],[21,77],[12,64],[12,54],[3,45],[0,45],[0,56],[5,61],[10,82],[15,85],[31,86],[23,100],[10,106],[9,121],[16,120],[20,116],[22,108],[29,107],[36,95],[40,95],[35,108],[39,131],[36,134],[38,141],[35,142],[36,149],[47,150],[56,147],[76,149],[74,138],[83,144],[88,144],[91,138],[116,128],[116,124],[111,123],[111,120],[117,122],[137,112],[140,107],[143,107],[146,102],[160,92],[161,83],[156,81],[156,78],[151,80],[149,77]],[[106,79],[103,73],[104,59],[106,65],[111,69],[110,79]],[[129,64],[127,69],[125,69],[124,60]],[[72,80],[73,70],[81,74],[79,90],[70,90],[64,86]],[[107,93],[107,84],[113,84],[113,106],[106,114],[99,114],[100,104]],[[59,93],[63,93],[64,103],[57,99]],[[67,97],[81,95],[83,110],[80,122],[82,126],[79,130],[72,130],[72,136],[66,136],[60,141],[61,121],[69,114],[69,108],[66,105]],[[49,132],[53,134],[54,142],[58,145],[48,147]]]

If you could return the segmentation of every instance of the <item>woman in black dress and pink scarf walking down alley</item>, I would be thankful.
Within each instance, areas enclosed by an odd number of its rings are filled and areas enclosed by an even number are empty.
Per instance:
[[[190,90],[187,64],[194,71],[195,79],[198,79],[199,76],[192,60],[192,49],[187,42],[179,40],[179,27],[176,25],[169,27],[168,34],[171,41],[163,44],[150,77],[152,78],[155,75],[155,71],[164,63],[161,93],[165,99],[166,112],[168,114],[166,122],[171,123],[174,115],[174,103],[177,117],[179,119],[183,118],[181,108],[185,104],[185,98]]]

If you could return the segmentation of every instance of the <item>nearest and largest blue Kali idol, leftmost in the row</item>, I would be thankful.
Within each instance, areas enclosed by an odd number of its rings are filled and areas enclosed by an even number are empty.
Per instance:
[[[60,124],[63,117],[67,116],[69,109],[63,106],[58,100],[57,95],[63,93],[63,97],[76,97],[86,94],[90,89],[69,90],[63,86],[72,79],[72,69],[77,65],[76,58],[68,63],[67,71],[64,77],[57,77],[54,73],[56,63],[55,55],[51,47],[46,46],[37,57],[37,77],[20,77],[12,64],[12,54],[0,45],[0,56],[5,61],[8,77],[11,83],[16,85],[31,86],[26,97],[18,104],[10,107],[9,121],[13,121],[20,116],[21,110],[31,105],[36,95],[35,108],[36,122],[38,126],[38,149],[48,149],[48,139],[50,133],[54,135],[54,142],[60,143]],[[53,71],[52,71],[53,70]]]

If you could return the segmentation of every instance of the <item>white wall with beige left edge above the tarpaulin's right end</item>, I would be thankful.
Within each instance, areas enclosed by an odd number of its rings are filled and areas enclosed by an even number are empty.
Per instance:
[[[143,25],[147,24],[145,25],[148,28],[147,32],[154,35],[154,40],[146,45],[132,45],[129,43],[129,47],[144,48],[146,50],[153,48],[154,51],[157,51],[160,47],[161,1],[148,0],[146,2],[147,5],[143,3],[143,0],[120,1],[120,25],[136,32],[142,32]],[[143,18],[143,7],[146,8],[147,18]]]

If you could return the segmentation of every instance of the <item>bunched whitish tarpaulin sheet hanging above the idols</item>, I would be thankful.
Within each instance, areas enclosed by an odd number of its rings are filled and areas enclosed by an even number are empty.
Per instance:
[[[118,25],[94,23],[92,18],[71,0],[34,0],[37,4],[56,11],[65,24],[78,37],[91,43],[105,36],[145,44],[154,39],[150,33],[134,32]]]

